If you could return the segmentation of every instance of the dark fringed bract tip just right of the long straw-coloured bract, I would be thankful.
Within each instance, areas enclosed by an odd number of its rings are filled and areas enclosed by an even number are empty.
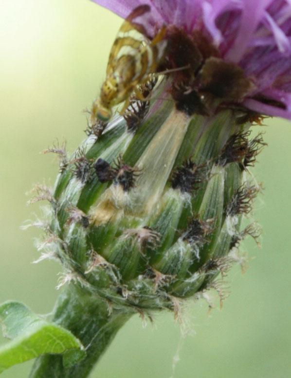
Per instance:
[[[176,168],[171,181],[173,189],[179,189],[182,193],[192,193],[207,179],[206,163],[198,165],[187,159],[181,167]]]

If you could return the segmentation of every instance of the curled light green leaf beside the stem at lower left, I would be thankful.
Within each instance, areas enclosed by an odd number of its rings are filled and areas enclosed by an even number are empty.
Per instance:
[[[80,340],[70,331],[34,314],[22,303],[1,304],[0,322],[3,335],[13,338],[0,347],[0,373],[42,354],[64,354],[65,366],[75,364],[86,355]]]

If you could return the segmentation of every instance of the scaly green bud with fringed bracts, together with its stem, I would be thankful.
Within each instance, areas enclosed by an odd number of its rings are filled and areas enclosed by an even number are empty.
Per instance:
[[[91,123],[70,159],[51,150],[61,169],[44,256],[61,261],[69,282],[53,320],[87,357],[70,369],[60,356],[40,357],[31,377],[86,377],[132,314],[179,316],[181,300],[210,287],[222,298],[217,276],[242,263],[245,235],[257,237],[253,225],[240,230],[259,190],[247,167],[263,144],[250,136],[248,112],[188,114],[175,106],[170,80],[147,86],[156,100],[133,97],[123,117]]]

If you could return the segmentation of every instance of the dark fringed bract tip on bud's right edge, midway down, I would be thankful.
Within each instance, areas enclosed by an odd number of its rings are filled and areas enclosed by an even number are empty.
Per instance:
[[[259,189],[260,188],[255,185],[242,185],[238,188],[227,205],[226,215],[235,216],[238,214],[248,214],[252,210],[253,200]]]

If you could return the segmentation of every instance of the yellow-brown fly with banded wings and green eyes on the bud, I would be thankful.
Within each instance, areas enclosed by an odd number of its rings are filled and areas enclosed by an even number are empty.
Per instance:
[[[149,5],[135,8],[123,22],[111,47],[106,70],[106,79],[101,87],[100,96],[93,102],[91,114],[95,119],[109,121],[112,107],[125,102],[120,114],[129,105],[130,95],[135,92],[143,99],[138,86],[156,73],[166,49],[165,26],[152,40],[148,40],[145,27],[135,22],[138,17],[150,12]]]

